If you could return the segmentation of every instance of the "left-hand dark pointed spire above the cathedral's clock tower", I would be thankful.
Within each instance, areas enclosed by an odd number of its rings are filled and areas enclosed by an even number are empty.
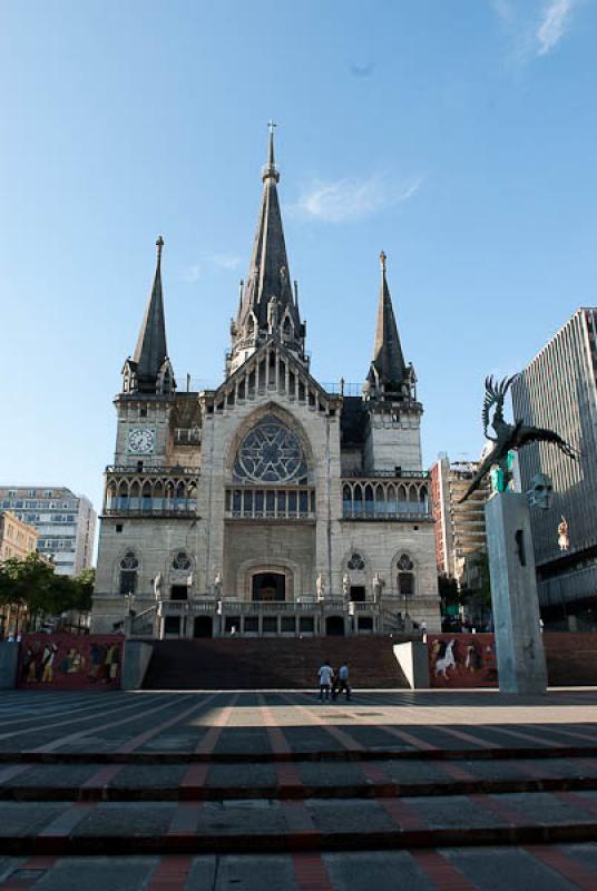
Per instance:
[[[160,391],[160,379],[166,373],[172,378],[172,368],[166,346],[166,322],[164,319],[164,297],[162,293],[162,235],[156,242],[157,263],[154,283],[145,307],[139,337],[133,359],[127,360],[125,374],[130,391],[156,393]],[[162,382],[163,383],[163,382]]]

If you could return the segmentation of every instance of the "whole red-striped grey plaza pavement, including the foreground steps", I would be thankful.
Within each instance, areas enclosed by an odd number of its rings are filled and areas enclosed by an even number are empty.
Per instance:
[[[589,688],[4,692],[0,889],[597,891],[596,728]]]

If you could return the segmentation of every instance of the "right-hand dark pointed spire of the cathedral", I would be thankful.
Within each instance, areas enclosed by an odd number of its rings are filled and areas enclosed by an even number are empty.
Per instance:
[[[386,256],[382,251],[380,300],[378,305],[378,324],[375,327],[375,343],[373,346],[373,361],[368,375],[370,384],[386,393],[400,393],[409,378],[404,363],[402,346],[398,335],[392,297],[385,276]]]

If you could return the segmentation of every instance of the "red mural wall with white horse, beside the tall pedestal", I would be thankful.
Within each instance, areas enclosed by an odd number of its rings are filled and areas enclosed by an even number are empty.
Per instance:
[[[427,642],[432,687],[497,687],[492,634],[435,634]]]

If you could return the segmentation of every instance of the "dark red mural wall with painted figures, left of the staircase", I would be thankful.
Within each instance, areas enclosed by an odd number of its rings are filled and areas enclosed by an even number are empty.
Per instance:
[[[46,689],[118,689],[121,635],[25,635],[18,686]]]

